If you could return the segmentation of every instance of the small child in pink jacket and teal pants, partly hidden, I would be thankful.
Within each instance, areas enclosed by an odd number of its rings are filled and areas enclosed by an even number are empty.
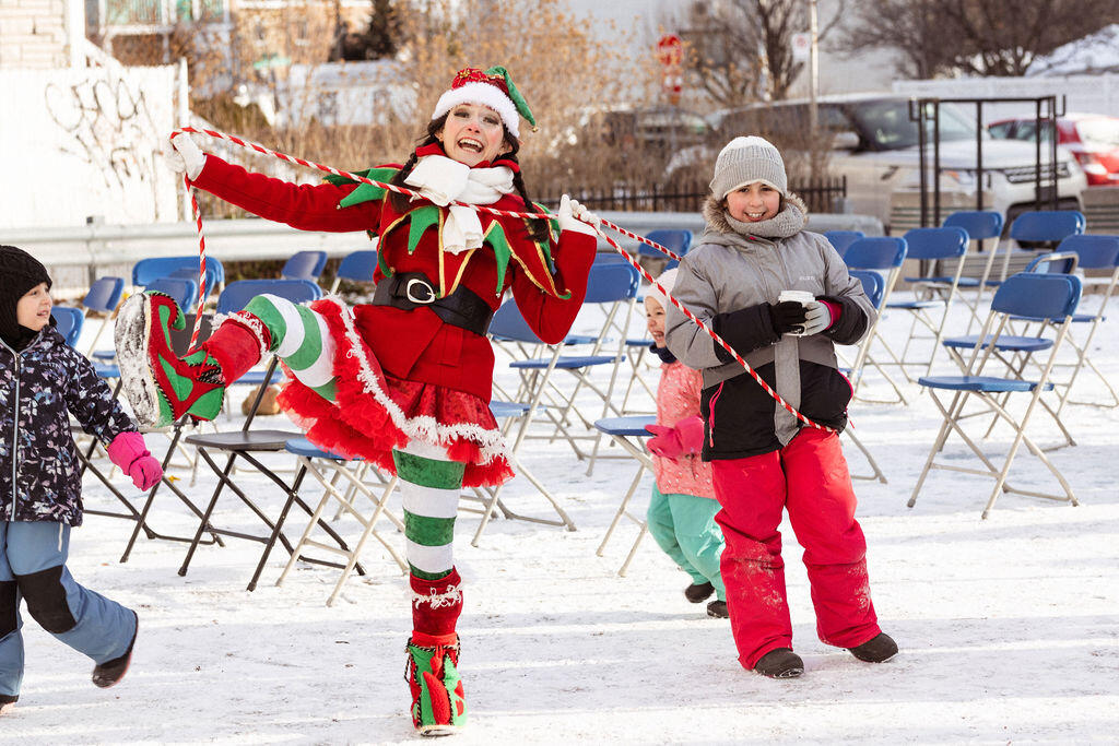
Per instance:
[[[658,282],[671,292],[676,270]],[[706,601],[707,614],[725,618],[726,592],[720,575],[723,532],[715,522],[720,506],[715,500],[711,465],[699,459],[703,418],[699,393],[703,377],[686,368],[665,347],[665,306],[668,299],[652,287],[645,298],[645,312],[652,337],[650,349],[661,360],[657,386],[657,424],[647,444],[652,453],[656,484],[649,502],[649,533],[685,573],[692,584],[684,595],[694,604]]]

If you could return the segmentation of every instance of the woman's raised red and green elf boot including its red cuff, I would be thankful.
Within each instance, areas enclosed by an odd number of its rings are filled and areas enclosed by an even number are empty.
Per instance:
[[[266,337],[263,323],[257,325]],[[182,415],[213,419],[222,410],[225,386],[256,365],[269,340],[226,321],[185,357],[171,347],[171,329],[186,329],[176,302],[163,293],[132,295],[116,315],[116,360],[124,393],[140,424],[163,427]]]

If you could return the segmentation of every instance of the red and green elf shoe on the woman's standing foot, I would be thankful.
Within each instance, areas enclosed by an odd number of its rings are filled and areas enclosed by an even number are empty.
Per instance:
[[[467,724],[459,678],[459,635],[413,632],[405,676],[412,691],[412,725],[423,736],[446,736]]]

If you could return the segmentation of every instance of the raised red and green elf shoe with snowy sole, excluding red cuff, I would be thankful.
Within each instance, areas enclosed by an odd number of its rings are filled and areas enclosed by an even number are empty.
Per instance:
[[[171,348],[171,329],[186,329],[176,302],[163,293],[132,295],[116,315],[116,360],[124,393],[140,424],[171,425],[185,414],[213,419],[222,410],[225,381],[209,352],[179,358]]]

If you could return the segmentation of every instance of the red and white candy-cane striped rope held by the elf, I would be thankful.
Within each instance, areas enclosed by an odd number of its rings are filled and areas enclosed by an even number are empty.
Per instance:
[[[304,160],[302,158],[295,158],[293,155],[288,155],[285,153],[279,153],[279,152],[276,152],[274,150],[270,150],[269,148],[265,148],[264,145],[261,145],[258,143],[250,142],[247,140],[242,140],[241,138],[235,138],[235,136],[233,136],[231,134],[226,134],[224,132],[217,132],[216,130],[197,130],[197,129],[191,128],[191,126],[185,126],[185,128],[180,128],[180,129],[176,130],[175,132],[172,132],[170,136],[173,138],[173,136],[176,136],[178,134],[182,134],[182,133],[205,134],[207,136],[210,136],[210,138],[214,138],[214,139],[217,139],[217,140],[227,140],[227,141],[234,143],[235,145],[238,145],[238,147],[244,148],[246,150],[255,151],[255,152],[257,152],[257,153],[260,153],[262,155],[271,155],[271,157],[276,158],[276,159],[279,159],[281,161],[284,161],[285,163],[293,163],[293,164],[297,164],[297,166],[303,166],[305,168],[316,169],[316,170],[319,170],[319,171],[325,171],[326,173],[332,173],[335,176],[342,177],[342,178],[346,178],[346,179],[351,179],[354,181],[359,181],[361,183],[367,183],[367,185],[370,185],[373,187],[380,187],[382,189],[387,189],[389,191],[395,191],[395,192],[401,193],[401,195],[407,195],[410,197],[422,197],[422,195],[420,195],[419,192],[413,191],[412,189],[407,189],[405,187],[397,187],[396,185],[385,183],[383,181],[374,181],[373,179],[368,179],[368,178],[366,178],[364,176],[358,176],[357,173],[350,173],[349,171],[339,171],[336,168],[331,168],[329,166],[323,166],[321,163],[316,163],[314,161],[308,161],[308,160]],[[201,215],[200,215],[200,213],[198,210],[198,201],[195,199],[192,183],[190,182],[189,179],[186,179],[186,185],[187,185],[188,190],[190,191],[190,201],[191,201],[191,205],[194,207],[195,221],[196,221],[197,227],[198,227],[198,255],[199,255],[199,275],[200,275],[198,286],[199,286],[199,289],[201,289],[201,287],[205,286],[205,282],[206,282],[206,240],[205,240],[205,238],[203,236]],[[547,217],[545,215],[542,215],[540,213],[515,213],[513,210],[499,210],[499,209],[489,207],[488,205],[469,205],[467,202],[459,202],[459,201],[454,201],[454,200],[452,200],[451,204],[452,205],[461,205],[463,207],[470,207],[470,208],[473,208],[474,210],[478,210],[480,213],[487,213],[489,215],[499,215],[499,216],[505,216],[505,217],[537,218],[537,219],[542,218],[542,217]],[[809,419],[805,415],[800,414],[788,402],[786,402],[783,398],[781,398],[781,395],[779,395],[775,390],[773,390],[773,387],[771,387],[769,384],[767,384],[762,379],[762,377],[758,375],[758,371],[755,371],[753,368],[751,368],[750,363],[746,362],[742,358],[742,356],[739,355],[734,350],[734,348],[732,348],[730,344],[727,344],[726,341],[722,337],[720,337],[714,331],[712,331],[711,328],[707,327],[707,324],[705,324],[703,321],[700,321],[699,319],[697,319],[694,313],[692,313],[686,308],[684,308],[684,305],[679,301],[677,301],[675,298],[673,298],[671,294],[669,294],[664,287],[660,286],[660,283],[658,283],[656,280],[652,278],[652,275],[650,275],[648,272],[646,272],[643,268],[641,268],[641,265],[638,264],[637,259],[634,259],[632,256],[630,256],[629,252],[627,252],[624,248],[622,248],[621,246],[619,246],[618,243],[614,242],[614,239],[612,239],[610,236],[608,236],[606,234],[604,234],[602,232],[603,227],[610,228],[611,230],[617,230],[618,233],[620,233],[620,234],[622,234],[624,236],[629,236],[630,238],[634,238],[634,239],[641,242],[642,244],[646,244],[648,246],[652,246],[657,251],[666,254],[667,256],[670,256],[671,258],[674,258],[676,261],[679,261],[680,257],[677,254],[673,253],[667,247],[661,246],[660,244],[658,244],[658,243],[656,243],[653,240],[649,240],[645,236],[639,236],[638,234],[632,233],[630,230],[627,230],[626,228],[622,228],[621,226],[614,225],[610,220],[601,220],[601,226],[595,226],[594,227],[595,233],[598,233],[599,236],[601,236],[608,244],[610,244],[610,246],[612,246],[614,248],[614,251],[617,251],[619,254],[621,254],[623,257],[626,257],[626,261],[629,262],[630,265],[634,270],[637,270],[638,273],[642,277],[645,277],[646,280],[648,280],[651,284],[656,285],[657,290],[659,292],[664,293],[665,296],[671,302],[673,305],[675,305],[677,309],[679,309],[680,312],[684,313],[684,315],[687,317],[694,324],[696,324],[702,330],[704,330],[705,332],[707,332],[707,334],[712,339],[714,339],[720,346],[722,346],[723,349],[725,349],[727,352],[730,352],[732,356],[734,356],[734,360],[740,366],[742,366],[743,369],[747,374],[750,374],[755,381],[758,381],[758,385],[761,386],[765,390],[765,393],[769,394],[773,398],[774,402],[777,402],[778,404],[780,404],[790,414],[792,414],[797,419],[799,419],[800,422],[805,423],[806,425],[809,425],[809,426],[815,427],[817,429],[822,429],[822,431],[826,431],[826,432],[829,432],[829,433],[836,432],[831,427],[828,427],[826,425],[820,425],[818,423],[812,422],[811,419]],[[201,303],[203,298],[204,298],[204,295],[201,294],[201,291],[200,291],[199,292],[199,304]],[[199,305],[199,309],[200,308],[201,306]],[[201,314],[199,314],[199,319],[200,318],[201,318]],[[199,319],[195,320],[195,330],[194,330],[194,333],[191,334],[191,338],[190,338],[190,347],[191,347],[191,349],[194,348],[195,340],[196,340],[196,338],[198,336]]]

